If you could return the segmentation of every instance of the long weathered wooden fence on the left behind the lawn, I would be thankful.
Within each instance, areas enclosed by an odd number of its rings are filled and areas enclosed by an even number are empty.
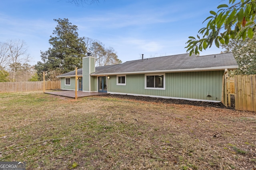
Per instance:
[[[60,81],[46,81],[45,90],[60,89]],[[0,82],[0,93],[44,90],[44,82]]]

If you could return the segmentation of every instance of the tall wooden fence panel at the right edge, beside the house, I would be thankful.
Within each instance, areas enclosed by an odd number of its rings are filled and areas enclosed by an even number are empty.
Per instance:
[[[234,76],[236,110],[256,111],[256,74]]]

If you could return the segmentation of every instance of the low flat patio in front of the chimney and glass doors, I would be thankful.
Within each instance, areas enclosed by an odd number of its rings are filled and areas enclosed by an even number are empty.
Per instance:
[[[70,98],[75,98],[75,91],[74,90],[61,90],[61,91],[51,91],[51,92],[44,92],[46,94],[54,94],[58,96],[65,96]],[[86,96],[96,96],[96,95],[103,95],[108,93],[102,93],[102,92],[82,92],[77,91],[77,97],[86,97]]]

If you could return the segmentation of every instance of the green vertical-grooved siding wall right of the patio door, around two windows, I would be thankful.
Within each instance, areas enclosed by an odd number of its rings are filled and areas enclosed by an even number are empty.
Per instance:
[[[165,90],[145,89],[144,74],[126,75],[126,85],[108,80],[108,92],[221,101],[224,71],[177,72],[165,74]]]

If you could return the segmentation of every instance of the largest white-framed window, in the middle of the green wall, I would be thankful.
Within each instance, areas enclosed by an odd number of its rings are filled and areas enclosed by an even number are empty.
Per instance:
[[[146,74],[145,88],[146,89],[161,89],[165,90],[165,74]]]

